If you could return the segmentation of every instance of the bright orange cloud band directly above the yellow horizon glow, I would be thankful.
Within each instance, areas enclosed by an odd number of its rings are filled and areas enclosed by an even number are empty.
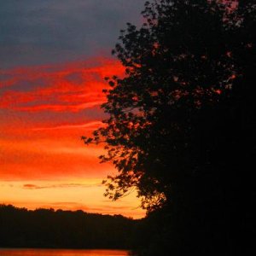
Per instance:
[[[100,164],[98,156],[104,154],[103,148],[84,147],[79,135],[73,139],[61,134],[55,140],[37,138],[0,143],[2,180],[102,179],[113,172],[110,163]]]

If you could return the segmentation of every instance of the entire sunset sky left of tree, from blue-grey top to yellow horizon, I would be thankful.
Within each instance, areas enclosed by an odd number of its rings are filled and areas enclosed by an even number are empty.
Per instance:
[[[103,196],[103,146],[81,136],[107,118],[104,77],[122,76],[111,56],[144,0],[0,0],[0,203],[142,218],[136,193]]]

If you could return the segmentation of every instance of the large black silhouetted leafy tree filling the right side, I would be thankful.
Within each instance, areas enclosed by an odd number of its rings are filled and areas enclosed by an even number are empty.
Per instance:
[[[84,143],[105,142],[118,170],[106,195],[137,189],[157,234],[147,255],[234,253],[255,153],[256,4],[158,0],[142,14],[113,49],[126,69],[107,79],[106,126]]]

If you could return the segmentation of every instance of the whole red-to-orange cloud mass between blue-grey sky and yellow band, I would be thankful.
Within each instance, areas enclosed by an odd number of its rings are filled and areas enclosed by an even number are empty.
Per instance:
[[[0,177],[106,177],[112,172],[110,164],[99,164],[103,146],[86,148],[80,138],[103,125],[99,105],[108,86],[103,78],[123,71],[118,61],[99,57],[2,70]]]

